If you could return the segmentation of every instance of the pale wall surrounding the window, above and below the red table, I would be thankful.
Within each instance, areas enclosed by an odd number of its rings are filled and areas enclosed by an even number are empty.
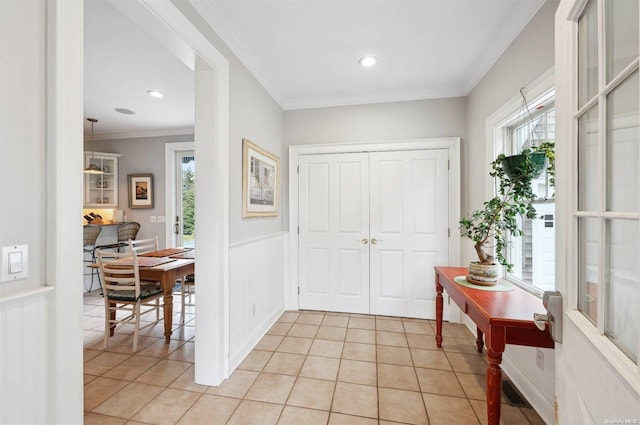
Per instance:
[[[485,140],[487,118],[518,95],[554,64],[554,14],[558,1],[549,0],[467,97],[467,140],[462,147],[462,213],[480,208],[487,188]],[[478,158],[481,160],[478,161]],[[462,240],[462,260],[474,259],[471,242]],[[542,301],[540,301],[542,302]],[[472,326],[475,330],[475,325]],[[544,370],[536,366],[536,349],[508,346],[503,370],[548,423],[554,421],[553,351],[544,353]]]

